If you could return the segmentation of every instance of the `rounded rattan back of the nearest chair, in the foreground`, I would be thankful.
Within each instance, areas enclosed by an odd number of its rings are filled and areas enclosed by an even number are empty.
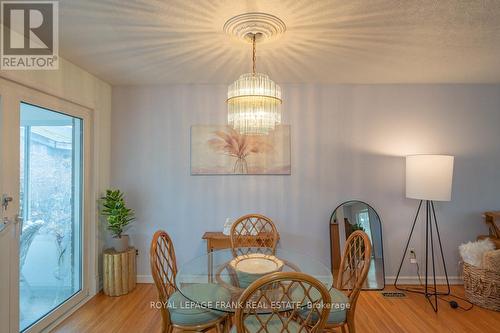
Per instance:
[[[231,333],[315,333],[326,323],[330,294],[310,275],[276,272],[253,282],[238,304]]]

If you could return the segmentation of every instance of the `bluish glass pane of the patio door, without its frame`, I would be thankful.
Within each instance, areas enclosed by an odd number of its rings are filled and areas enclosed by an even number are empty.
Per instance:
[[[20,105],[20,330],[82,286],[82,120]]]

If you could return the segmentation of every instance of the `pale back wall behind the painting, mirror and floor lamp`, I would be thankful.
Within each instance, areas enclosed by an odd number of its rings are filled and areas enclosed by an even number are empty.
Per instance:
[[[149,277],[155,230],[171,234],[181,267],[205,251],[203,232],[248,212],[276,221],[283,248],[329,265],[330,215],[360,199],[382,219],[389,282],[418,204],[405,198],[403,156],[445,153],[456,156],[453,199],[436,209],[448,272],[458,277],[458,246],[487,233],[481,213],[499,208],[500,85],[282,87],[290,176],[190,175],[190,127],[226,122],[225,85],[113,88],[112,184],[137,212],[138,274]],[[419,259],[424,235],[420,225],[411,244]],[[402,273],[416,280],[409,264]]]

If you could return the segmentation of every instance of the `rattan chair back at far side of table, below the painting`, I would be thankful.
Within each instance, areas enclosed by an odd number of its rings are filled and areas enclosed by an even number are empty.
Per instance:
[[[279,234],[270,218],[260,214],[248,214],[233,223],[230,238],[231,250],[235,257],[248,254],[249,248],[262,248],[266,249],[266,253],[274,254]]]

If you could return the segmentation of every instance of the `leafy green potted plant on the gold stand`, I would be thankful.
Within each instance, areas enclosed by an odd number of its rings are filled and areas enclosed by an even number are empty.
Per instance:
[[[107,229],[112,234],[110,245],[115,251],[125,251],[128,249],[128,235],[124,235],[123,231],[135,220],[135,212],[127,208],[120,190],[106,190],[106,195],[101,200],[101,215],[106,217]]]

